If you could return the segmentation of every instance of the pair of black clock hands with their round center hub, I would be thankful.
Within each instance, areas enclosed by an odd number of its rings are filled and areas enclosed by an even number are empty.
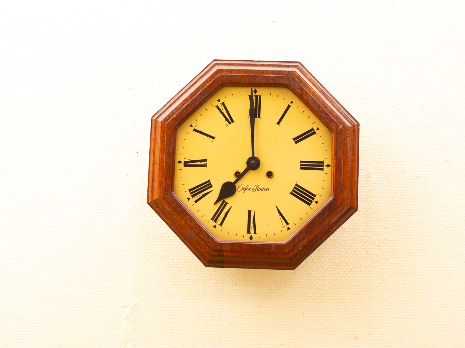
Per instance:
[[[249,170],[255,170],[260,167],[260,160],[258,157],[255,156],[255,118],[257,117],[255,106],[253,105],[253,91],[252,88],[250,89],[249,95],[249,121],[250,121],[250,142],[252,144],[252,156],[247,158],[246,161],[246,169],[239,174],[239,176],[234,180],[226,181],[221,185],[221,189],[219,190],[218,198],[215,200],[213,205],[217,204],[220,200],[224,200],[225,198],[231,197],[234,193],[236,193],[236,183],[244,176]]]

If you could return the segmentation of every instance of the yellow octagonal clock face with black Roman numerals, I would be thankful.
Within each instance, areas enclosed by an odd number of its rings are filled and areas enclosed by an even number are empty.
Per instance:
[[[218,240],[284,242],[332,194],[331,132],[284,87],[218,90],[179,126],[175,161],[174,193]]]

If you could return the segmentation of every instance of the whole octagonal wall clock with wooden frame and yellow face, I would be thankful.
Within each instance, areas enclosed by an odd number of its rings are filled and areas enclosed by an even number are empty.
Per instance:
[[[302,64],[214,60],[152,118],[147,202],[206,266],[291,270],[356,212],[358,154]]]

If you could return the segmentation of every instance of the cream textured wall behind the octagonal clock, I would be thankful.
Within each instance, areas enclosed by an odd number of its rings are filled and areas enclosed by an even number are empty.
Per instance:
[[[463,1],[10,1],[0,347],[464,347]],[[295,271],[207,269],[146,204],[150,118],[214,58],[360,122],[359,211]]]

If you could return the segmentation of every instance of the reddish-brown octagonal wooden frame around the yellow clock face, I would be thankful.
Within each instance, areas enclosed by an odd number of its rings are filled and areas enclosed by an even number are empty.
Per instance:
[[[295,93],[332,132],[332,196],[286,242],[221,241],[174,194],[176,130],[225,85]],[[214,60],[153,117],[147,203],[208,267],[295,269],[357,211],[359,123],[299,62]]]

